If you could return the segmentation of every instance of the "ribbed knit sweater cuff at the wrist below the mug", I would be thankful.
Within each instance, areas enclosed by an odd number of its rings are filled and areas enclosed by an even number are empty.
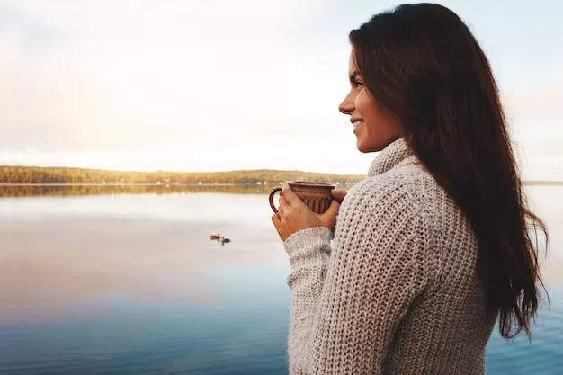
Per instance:
[[[288,237],[283,246],[290,255],[293,268],[302,265],[317,265],[330,254],[332,233],[329,228],[316,227],[299,230]]]

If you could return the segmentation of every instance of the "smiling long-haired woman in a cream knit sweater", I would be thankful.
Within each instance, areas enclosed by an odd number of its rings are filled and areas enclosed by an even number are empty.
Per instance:
[[[339,109],[358,149],[381,152],[323,215],[283,187],[290,374],[483,374],[497,318],[505,338],[530,336],[542,284],[527,224],[547,236],[487,58],[436,4],[377,14],[350,40]]]

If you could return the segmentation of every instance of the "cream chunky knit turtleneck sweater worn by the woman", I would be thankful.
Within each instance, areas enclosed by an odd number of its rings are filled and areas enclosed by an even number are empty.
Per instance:
[[[290,255],[290,375],[483,374],[487,318],[469,221],[404,139]]]

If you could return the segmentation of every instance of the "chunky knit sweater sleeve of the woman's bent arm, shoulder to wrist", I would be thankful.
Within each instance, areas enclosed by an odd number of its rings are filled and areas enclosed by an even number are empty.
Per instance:
[[[290,375],[383,373],[394,332],[428,282],[420,207],[405,186],[368,180],[348,195],[332,246],[327,228],[284,243]]]

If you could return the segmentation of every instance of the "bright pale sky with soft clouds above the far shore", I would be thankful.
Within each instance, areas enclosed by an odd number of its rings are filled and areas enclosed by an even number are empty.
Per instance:
[[[523,177],[563,181],[563,4],[451,0]],[[338,104],[377,0],[0,0],[0,165],[365,174]]]

